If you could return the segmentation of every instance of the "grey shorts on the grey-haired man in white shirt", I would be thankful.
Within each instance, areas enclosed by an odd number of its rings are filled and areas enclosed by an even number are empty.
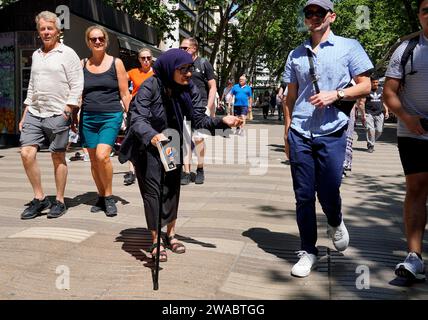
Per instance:
[[[22,126],[19,142],[22,147],[37,145],[49,146],[50,152],[65,152],[68,143],[68,131],[71,118],[64,115],[40,118],[27,112]]]

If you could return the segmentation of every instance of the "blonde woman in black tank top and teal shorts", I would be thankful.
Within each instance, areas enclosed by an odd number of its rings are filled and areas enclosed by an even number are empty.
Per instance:
[[[82,60],[85,77],[80,116],[82,146],[88,149],[91,172],[98,189],[98,200],[91,212],[104,211],[117,215],[113,199],[113,166],[110,161],[122,114],[128,111],[131,95],[123,62],[106,53],[108,34],[101,26],[92,26],[85,33],[91,57]]]

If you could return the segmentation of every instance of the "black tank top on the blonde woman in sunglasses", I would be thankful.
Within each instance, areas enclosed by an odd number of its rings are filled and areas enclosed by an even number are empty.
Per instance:
[[[86,68],[87,59],[83,68],[85,83],[83,86],[83,111],[90,112],[120,112],[119,82],[117,80],[116,58],[110,68],[102,73],[92,73]]]

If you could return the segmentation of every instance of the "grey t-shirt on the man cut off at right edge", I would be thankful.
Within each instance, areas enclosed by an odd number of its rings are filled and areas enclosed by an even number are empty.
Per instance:
[[[385,76],[394,79],[403,78],[403,68],[401,66],[401,57],[407,47],[409,40],[403,43],[395,50],[391,60],[389,61],[388,70]],[[400,100],[404,110],[411,114],[423,118],[428,118],[428,39],[420,35],[419,44],[413,51],[413,69],[417,71],[410,75],[410,58],[406,64],[406,83],[403,90],[400,91]],[[399,137],[412,137],[417,139],[428,140],[428,133],[424,135],[416,135],[406,127],[406,125],[398,119],[397,135]]]

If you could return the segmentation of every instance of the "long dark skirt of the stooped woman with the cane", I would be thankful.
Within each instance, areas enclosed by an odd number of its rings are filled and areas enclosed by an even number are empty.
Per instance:
[[[147,227],[149,230],[155,231],[159,219],[161,187],[163,187],[162,227],[177,219],[181,166],[165,174],[158,151],[151,147],[141,154],[134,166],[143,197]],[[162,174],[165,174],[163,186],[161,186]]]

